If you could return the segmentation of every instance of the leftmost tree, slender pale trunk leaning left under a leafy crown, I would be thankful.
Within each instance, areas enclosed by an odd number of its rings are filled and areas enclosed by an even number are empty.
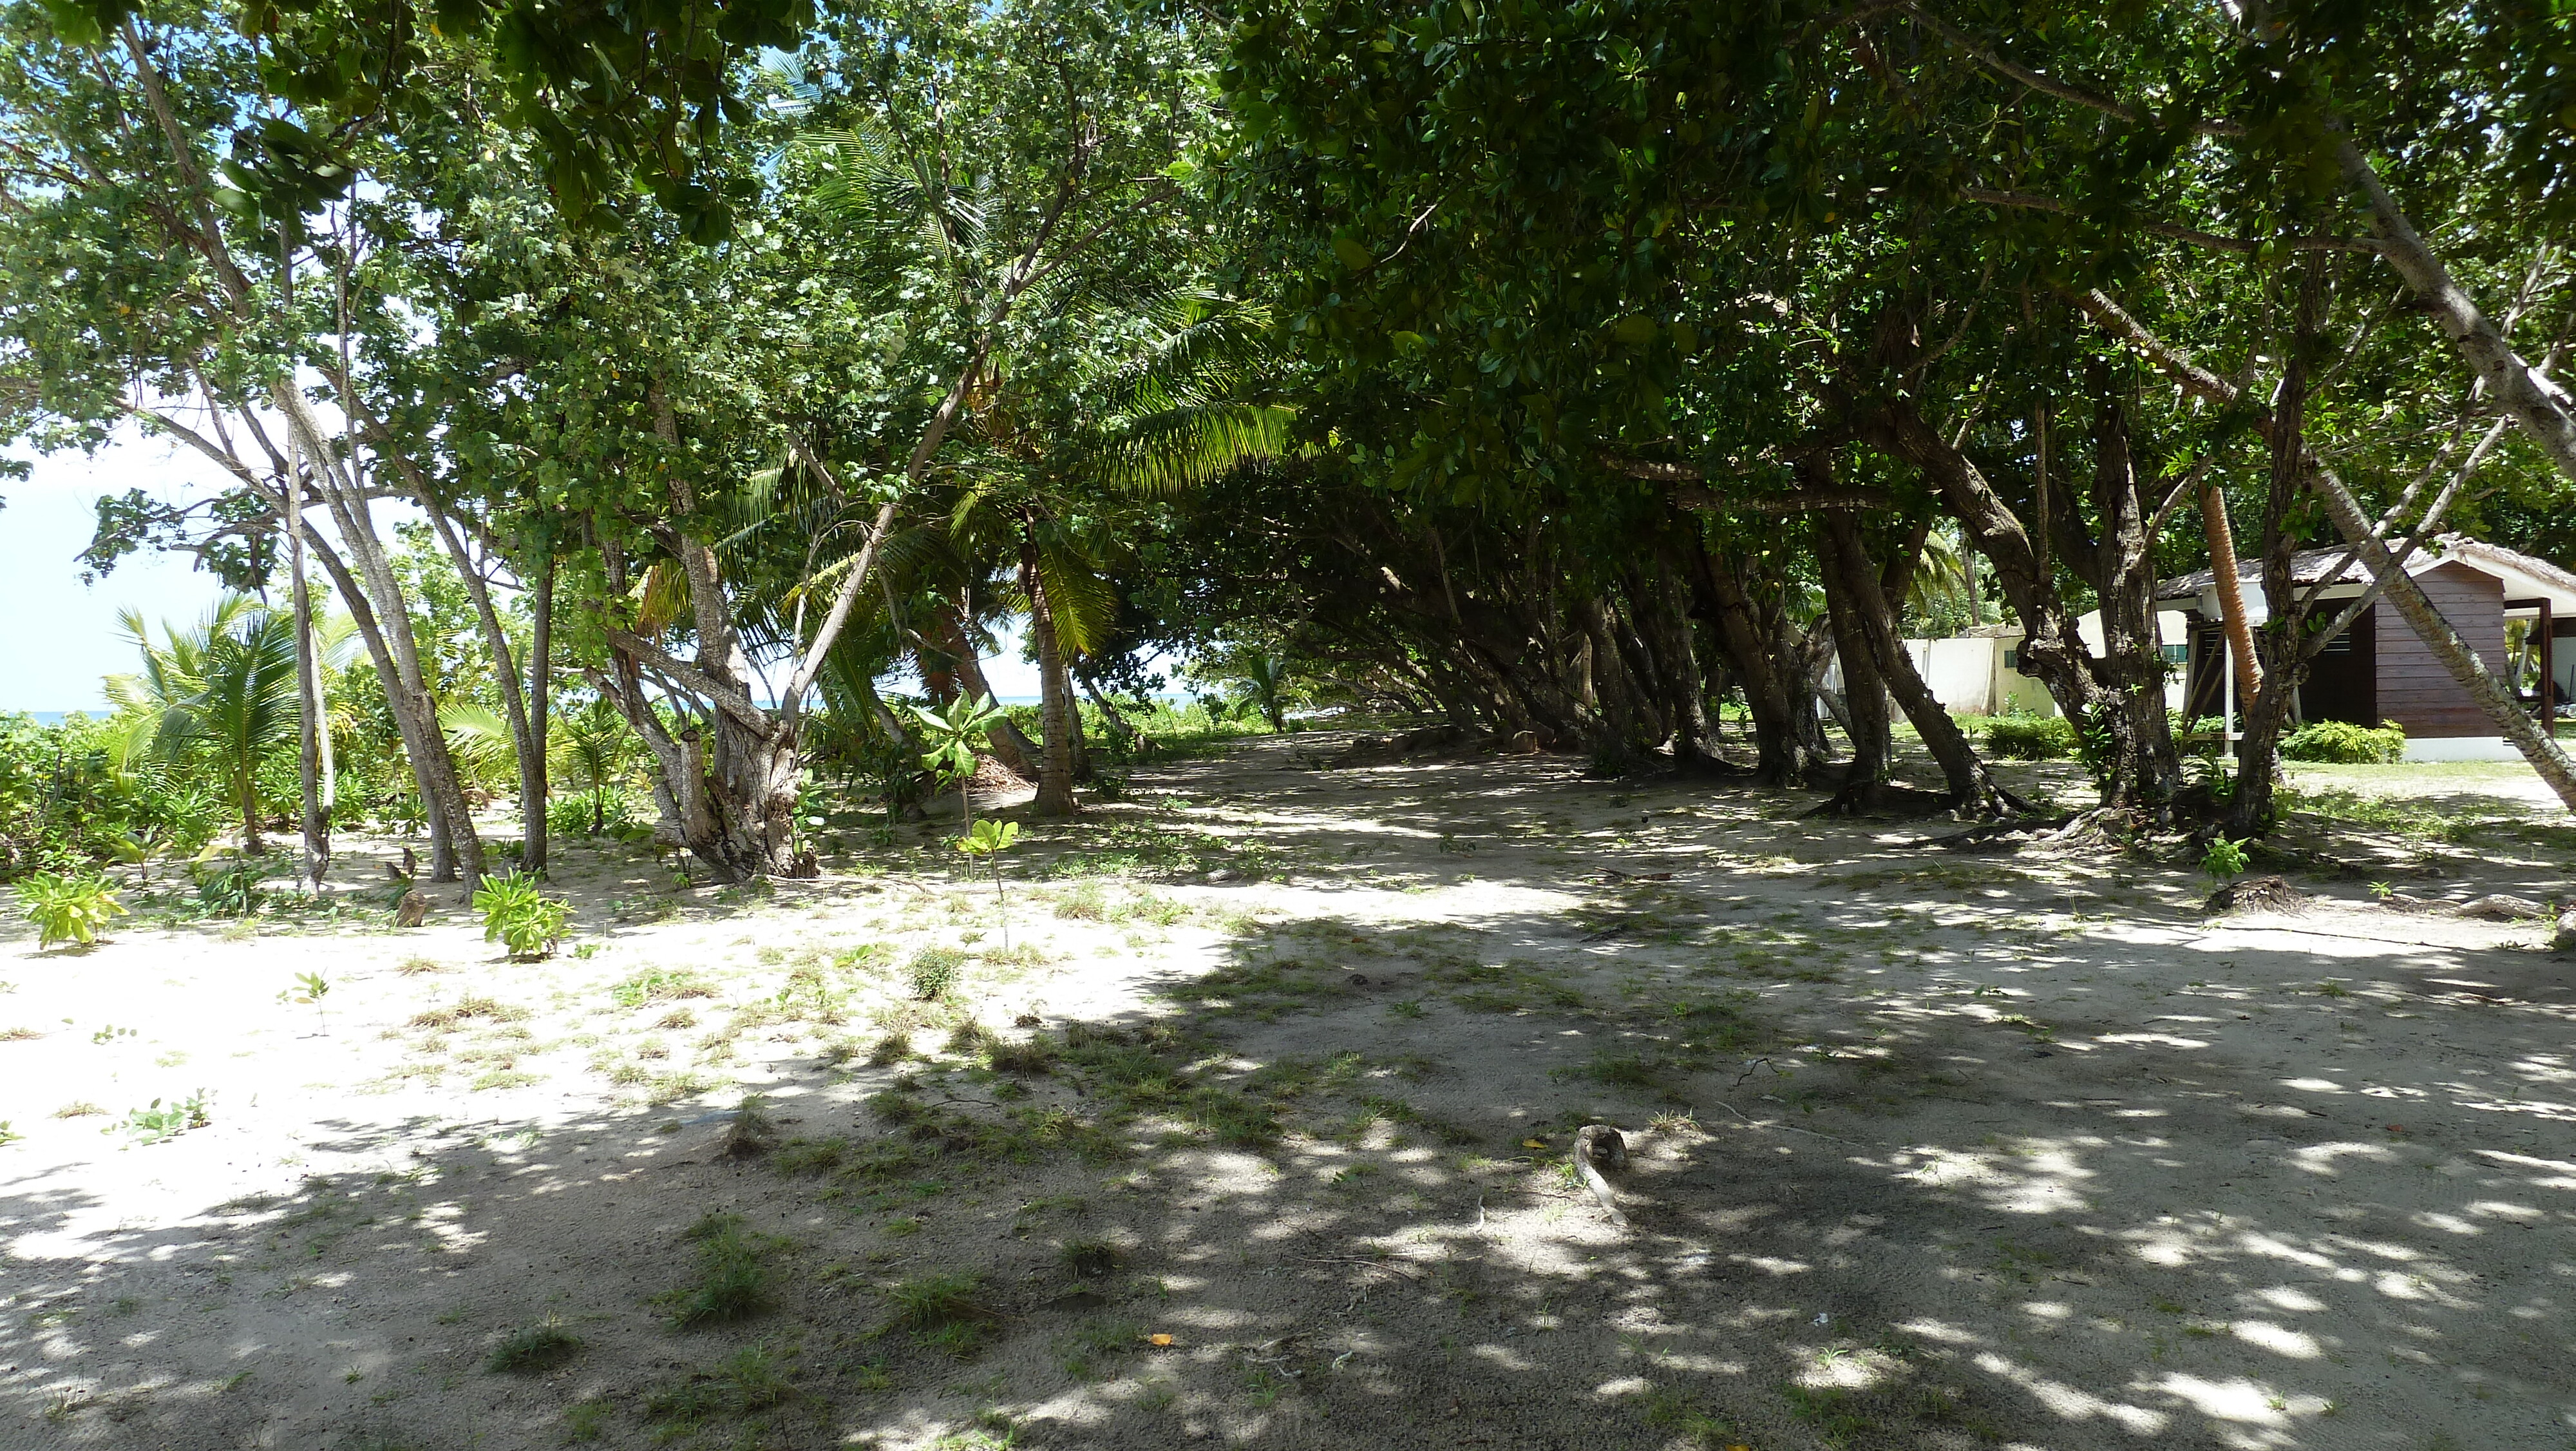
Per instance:
[[[0,13],[0,335],[13,343],[0,428],[41,448],[95,448],[139,420],[232,477],[232,492],[191,510],[139,495],[103,508],[98,567],[175,544],[247,588],[265,580],[265,539],[291,495],[314,500],[337,546],[309,544],[384,678],[435,874],[477,874],[482,848],[438,740],[410,603],[371,518],[371,459],[299,379],[332,351],[335,327],[345,335],[345,291],[296,283],[345,276],[345,247],[317,247],[307,219],[348,193],[353,157],[294,119],[258,46],[222,13],[118,13],[88,31],[77,21],[77,8]]]

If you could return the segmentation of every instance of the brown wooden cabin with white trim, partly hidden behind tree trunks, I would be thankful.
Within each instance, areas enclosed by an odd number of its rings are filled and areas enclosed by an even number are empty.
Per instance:
[[[2342,567],[2339,567],[2342,564]],[[2329,572],[2334,575],[2329,580]],[[2463,536],[2442,536],[2406,562],[2424,595],[2460,639],[2499,678],[2517,688],[2535,716],[2576,719],[2576,575],[2514,549]],[[2306,549],[2290,575],[2321,593],[2318,613],[2342,613],[2370,585],[2370,570],[2344,564],[2344,549]],[[2213,575],[2200,570],[2156,585],[2164,608],[2187,621],[2182,711],[2192,719],[2226,711],[2226,624]],[[2262,564],[2241,562],[2246,613],[2264,619]],[[2509,629],[2509,621],[2524,621]],[[2514,649],[2506,647],[2509,637]],[[2548,704],[2543,704],[2548,701]],[[2450,670],[2416,639],[2406,619],[2375,601],[2352,629],[2334,637],[2308,668],[2298,691],[2306,722],[2396,722],[2406,729],[2406,760],[2514,760],[2496,722],[2468,698]]]

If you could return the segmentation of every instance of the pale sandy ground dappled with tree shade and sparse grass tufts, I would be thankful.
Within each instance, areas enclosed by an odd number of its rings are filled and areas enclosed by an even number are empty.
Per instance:
[[[2576,1446],[2576,964],[2372,902],[2576,897],[2512,781],[2372,778],[2537,830],[2311,832],[2311,910],[2213,920],[1332,745],[1030,827],[1007,915],[927,845],[569,848],[544,964],[10,915],[0,1446]]]

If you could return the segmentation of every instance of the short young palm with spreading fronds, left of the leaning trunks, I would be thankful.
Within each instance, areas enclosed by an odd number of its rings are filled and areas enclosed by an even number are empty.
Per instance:
[[[258,773],[270,750],[296,740],[294,616],[224,595],[188,631],[165,621],[160,644],[137,611],[118,621],[144,657],[142,675],[108,678],[108,698],[134,714],[129,747],[204,760],[242,814],[242,850],[268,850]]]

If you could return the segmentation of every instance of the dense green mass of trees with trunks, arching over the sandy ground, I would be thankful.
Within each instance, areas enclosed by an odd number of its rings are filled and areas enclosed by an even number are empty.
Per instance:
[[[0,420],[36,448],[142,420],[224,466],[188,508],[100,500],[90,567],[188,549],[304,598],[309,559],[299,711],[384,711],[410,781],[379,794],[435,871],[482,871],[484,778],[544,866],[567,711],[592,830],[623,722],[670,843],[806,871],[817,771],[920,789],[878,683],[987,693],[1005,619],[1043,706],[989,750],[1041,812],[1131,747],[1154,652],[1275,727],[1425,711],[1839,809],[1909,802],[1909,732],[1942,807],[2027,812],[1904,644],[1960,598],[2020,626],[2115,820],[2246,835],[2349,624],[2290,575],[2318,546],[2576,799],[2527,668],[2398,567],[2445,531],[2571,549],[2548,8],[0,28]],[[2228,603],[2233,778],[2177,745],[2154,598],[2228,552],[2267,606]],[[322,668],[330,608],[374,683]]]

